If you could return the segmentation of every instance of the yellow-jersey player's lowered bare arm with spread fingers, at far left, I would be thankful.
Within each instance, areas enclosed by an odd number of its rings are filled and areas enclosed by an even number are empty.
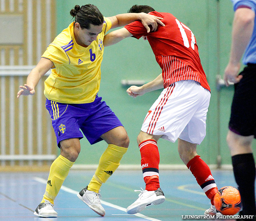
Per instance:
[[[21,95],[34,95],[35,87],[39,80],[53,66],[54,63],[51,60],[42,57],[35,68],[29,73],[26,84],[20,86],[21,89],[17,93],[17,98]]]

